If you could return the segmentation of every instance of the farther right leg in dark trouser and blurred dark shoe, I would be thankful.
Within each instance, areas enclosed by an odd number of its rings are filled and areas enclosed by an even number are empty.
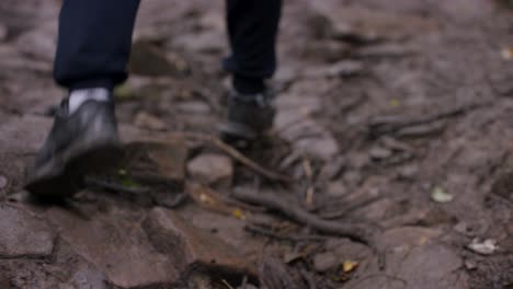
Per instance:
[[[232,74],[235,92],[220,132],[225,140],[247,146],[273,124],[273,95],[265,79],[276,69],[282,0],[227,0],[226,8],[231,55],[224,66]]]

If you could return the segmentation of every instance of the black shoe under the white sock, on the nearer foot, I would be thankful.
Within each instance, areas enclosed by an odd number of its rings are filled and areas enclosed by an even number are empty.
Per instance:
[[[72,113],[66,99],[55,111],[43,148],[25,171],[25,188],[39,197],[72,196],[83,188],[83,177],[89,172],[112,167],[119,157],[114,103],[110,97],[87,100]]]

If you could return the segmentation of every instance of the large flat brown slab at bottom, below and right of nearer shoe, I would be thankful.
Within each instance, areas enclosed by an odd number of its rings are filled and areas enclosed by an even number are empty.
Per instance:
[[[53,208],[47,217],[71,250],[117,287],[146,288],[179,280],[173,258],[153,248],[136,221],[139,217],[132,213],[111,211],[83,218]],[[88,276],[88,271],[76,275],[75,282],[83,278],[80,276]]]

